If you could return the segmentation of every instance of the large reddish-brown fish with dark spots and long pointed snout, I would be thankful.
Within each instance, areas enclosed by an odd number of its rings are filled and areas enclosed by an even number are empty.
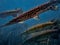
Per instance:
[[[3,26],[8,26],[8,25],[11,25],[11,24],[15,24],[15,23],[18,23],[18,22],[24,22],[25,20],[28,20],[30,18],[34,18],[34,17],[37,17],[38,14],[41,14],[43,12],[46,12],[47,10],[51,10],[51,6],[52,5],[55,5],[56,3],[60,3],[59,0],[53,0],[53,1],[50,1],[50,2],[47,2],[45,4],[42,4],[34,9],[31,9],[30,11],[27,11],[23,14],[20,14],[20,16],[12,19],[11,21],[9,21],[8,23],[6,23],[5,25]],[[54,7],[54,6],[52,6]]]

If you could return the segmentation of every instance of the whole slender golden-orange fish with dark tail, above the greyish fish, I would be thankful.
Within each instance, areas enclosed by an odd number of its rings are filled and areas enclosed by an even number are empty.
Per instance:
[[[58,19],[52,19],[51,21],[49,22],[46,22],[46,23],[42,23],[42,24],[37,24],[35,26],[32,26],[31,28],[28,28],[26,31],[24,31],[23,33],[31,33],[31,31],[36,31],[37,29],[43,29],[44,27],[51,27],[53,28],[56,27],[56,25],[59,25],[60,24],[60,20]]]

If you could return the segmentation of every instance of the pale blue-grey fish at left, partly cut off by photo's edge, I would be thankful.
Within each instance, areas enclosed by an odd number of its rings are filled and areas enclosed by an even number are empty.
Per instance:
[[[7,17],[7,16],[17,17],[18,13],[21,14],[21,13],[23,13],[23,11],[21,9],[8,10],[8,11],[5,11],[5,12],[1,12],[0,13],[0,18],[4,18],[4,17]]]

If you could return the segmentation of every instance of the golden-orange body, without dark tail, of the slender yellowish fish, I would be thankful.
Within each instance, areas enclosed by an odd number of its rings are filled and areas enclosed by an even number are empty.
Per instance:
[[[46,26],[51,26],[53,25],[55,22],[46,22],[43,24],[37,24],[35,26],[32,26],[31,28],[27,29],[26,31],[24,31],[23,33],[31,33],[31,31],[36,31],[37,29],[41,29],[44,28]]]

